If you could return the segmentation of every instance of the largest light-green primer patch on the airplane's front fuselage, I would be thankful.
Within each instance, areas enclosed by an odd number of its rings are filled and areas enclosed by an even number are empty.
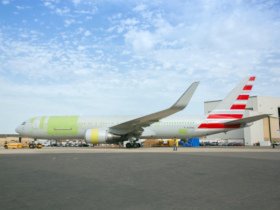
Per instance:
[[[79,116],[52,116],[48,119],[48,134],[78,134]]]

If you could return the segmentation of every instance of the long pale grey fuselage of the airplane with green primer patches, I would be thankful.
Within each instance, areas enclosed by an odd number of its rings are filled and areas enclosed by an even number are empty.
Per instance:
[[[242,125],[230,128],[200,128],[202,124],[208,124],[208,114],[204,115],[171,115],[160,122],[145,127],[144,131],[135,134],[136,138],[158,139],[187,139],[193,137],[208,136],[215,133],[227,132],[244,127]],[[16,132],[23,136],[38,139],[84,139],[87,129],[107,129],[109,132],[126,135],[133,132],[128,129],[111,129],[129,120],[143,117],[143,115],[126,116],[44,116],[26,120],[16,128]]]

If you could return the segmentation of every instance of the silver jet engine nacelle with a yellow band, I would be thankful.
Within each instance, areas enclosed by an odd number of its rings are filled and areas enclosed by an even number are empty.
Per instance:
[[[107,141],[121,139],[120,134],[111,133],[105,129],[88,129],[85,131],[85,141],[88,144],[103,144]]]

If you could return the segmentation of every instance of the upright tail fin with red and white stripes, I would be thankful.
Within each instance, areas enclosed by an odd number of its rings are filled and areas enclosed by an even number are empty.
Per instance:
[[[255,77],[245,77],[224,100],[209,113],[207,119],[212,121],[242,118],[254,81]]]

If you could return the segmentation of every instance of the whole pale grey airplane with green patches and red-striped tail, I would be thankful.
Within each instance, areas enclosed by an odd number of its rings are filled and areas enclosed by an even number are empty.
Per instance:
[[[44,116],[25,120],[15,131],[35,139],[85,139],[86,143],[119,143],[137,148],[139,139],[188,139],[251,126],[270,114],[243,118],[255,77],[245,77],[220,104],[204,115],[173,115],[189,103],[199,81],[192,83],[166,110],[133,116]]]

